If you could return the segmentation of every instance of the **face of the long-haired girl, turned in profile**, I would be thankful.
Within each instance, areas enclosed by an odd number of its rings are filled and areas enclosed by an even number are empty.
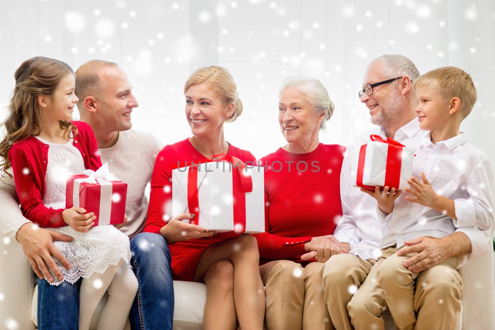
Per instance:
[[[79,101],[74,88],[76,80],[72,73],[68,73],[60,80],[53,95],[47,100],[46,114],[53,120],[72,119],[74,105]]]

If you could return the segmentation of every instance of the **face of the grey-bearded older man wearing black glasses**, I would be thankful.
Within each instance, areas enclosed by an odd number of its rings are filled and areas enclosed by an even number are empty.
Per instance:
[[[381,62],[373,63],[364,76],[364,88],[368,84],[378,83],[395,77],[386,77],[383,73]],[[385,84],[373,88],[373,94],[366,93],[361,96],[361,102],[365,103],[371,115],[371,122],[381,127],[387,127],[396,120],[401,112],[400,94],[397,83]]]

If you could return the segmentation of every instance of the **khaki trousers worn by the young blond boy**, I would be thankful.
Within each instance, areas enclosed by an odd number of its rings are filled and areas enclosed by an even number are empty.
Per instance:
[[[378,284],[397,329],[458,329],[462,280],[456,266],[460,258],[412,273],[402,263],[414,254],[399,257],[397,251],[394,247],[382,251],[378,269]]]

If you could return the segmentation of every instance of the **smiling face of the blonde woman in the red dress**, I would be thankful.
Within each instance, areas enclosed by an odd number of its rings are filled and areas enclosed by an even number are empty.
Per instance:
[[[225,119],[233,112],[234,103],[223,106],[220,98],[205,84],[193,85],[186,91],[186,118],[196,136],[221,130]]]

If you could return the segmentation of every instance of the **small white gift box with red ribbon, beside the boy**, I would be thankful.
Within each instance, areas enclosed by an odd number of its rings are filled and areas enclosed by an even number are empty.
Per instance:
[[[412,175],[414,149],[400,142],[378,135],[370,136],[371,142],[361,145],[354,164],[354,187],[375,190],[375,186],[403,190]]]

